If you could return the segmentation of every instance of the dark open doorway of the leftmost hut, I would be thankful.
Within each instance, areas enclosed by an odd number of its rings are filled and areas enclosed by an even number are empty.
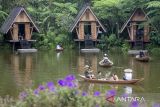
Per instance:
[[[25,38],[25,24],[18,24],[18,37],[20,40]]]

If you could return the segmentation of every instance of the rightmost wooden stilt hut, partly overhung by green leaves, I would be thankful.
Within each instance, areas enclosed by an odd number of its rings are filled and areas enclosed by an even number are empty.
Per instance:
[[[132,48],[140,46],[143,49],[144,45],[149,43],[150,26],[147,23],[148,20],[149,18],[144,10],[137,8],[122,26],[120,33],[124,31],[128,32],[129,40],[127,41],[131,44]]]

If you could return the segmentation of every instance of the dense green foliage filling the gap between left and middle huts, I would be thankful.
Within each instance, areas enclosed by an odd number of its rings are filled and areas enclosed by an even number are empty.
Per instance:
[[[59,42],[70,43],[67,32],[74,19],[73,14],[77,13],[76,4],[51,0],[31,0],[28,2],[27,10],[36,19],[41,31],[37,37],[38,47],[50,49]]]

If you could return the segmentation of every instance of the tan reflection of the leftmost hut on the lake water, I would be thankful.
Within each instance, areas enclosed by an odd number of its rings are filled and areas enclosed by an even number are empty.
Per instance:
[[[33,56],[30,54],[12,54],[10,59],[16,85],[18,87],[32,86]]]

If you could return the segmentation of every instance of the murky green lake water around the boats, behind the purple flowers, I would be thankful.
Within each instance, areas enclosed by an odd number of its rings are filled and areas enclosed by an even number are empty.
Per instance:
[[[145,96],[153,102],[160,99],[160,57],[152,57],[149,63],[138,62],[132,56],[121,52],[109,52],[109,58],[114,62],[111,68],[103,68],[98,62],[103,57],[103,52],[98,54],[82,54],[75,50],[37,52],[34,54],[13,54],[10,51],[0,52],[0,96],[10,95],[17,97],[22,90],[35,88],[41,83],[56,81],[68,74],[74,74],[79,80],[78,74],[83,73],[85,64],[91,66],[94,73],[102,71],[102,75],[116,73],[123,77],[123,70],[133,69],[133,78],[144,78],[138,85],[108,85],[79,83],[79,88],[87,92],[109,89],[117,90],[118,94]],[[159,98],[155,96],[158,95]],[[159,100],[157,101],[159,103]]]

